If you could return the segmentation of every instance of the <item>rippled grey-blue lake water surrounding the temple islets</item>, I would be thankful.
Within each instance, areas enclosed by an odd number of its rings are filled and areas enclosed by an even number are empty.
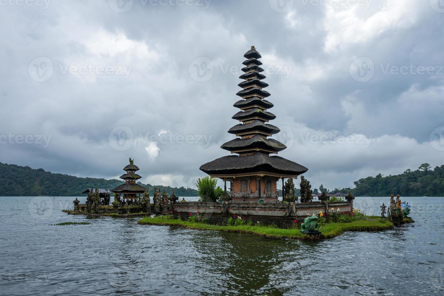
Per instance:
[[[355,208],[379,215],[389,199]],[[404,198],[412,225],[316,243],[61,212],[73,200],[0,197],[1,295],[444,293],[443,197]],[[91,225],[49,225],[65,221]]]

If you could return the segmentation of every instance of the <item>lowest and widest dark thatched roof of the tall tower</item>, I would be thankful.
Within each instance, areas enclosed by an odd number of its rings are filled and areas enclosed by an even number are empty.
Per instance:
[[[255,172],[268,172],[277,175],[298,176],[308,169],[296,162],[279,156],[267,156],[257,152],[248,156],[224,156],[212,162],[207,162],[200,170],[214,175],[248,174]]]

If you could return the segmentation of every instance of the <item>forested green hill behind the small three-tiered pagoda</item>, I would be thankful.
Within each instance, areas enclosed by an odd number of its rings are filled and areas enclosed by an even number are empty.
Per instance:
[[[78,178],[0,162],[0,196],[82,196],[82,192],[91,187],[114,189],[120,184],[123,184],[122,180]],[[149,187],[150,196],[153,196],[154,188],[151,184],[138,184]],[[174,189],[178,197],[198,196],[196,189],[156,187],[161,190],[165,188],[168,194]]]

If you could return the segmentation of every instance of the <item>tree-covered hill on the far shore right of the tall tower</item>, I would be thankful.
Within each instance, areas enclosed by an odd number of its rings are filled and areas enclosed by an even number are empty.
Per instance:
[[[396,176],[378,174],[354,182],[355,196],[444,196],[444,165],[433,170],[428,163],[423,163],[418,170],[406,170]]]

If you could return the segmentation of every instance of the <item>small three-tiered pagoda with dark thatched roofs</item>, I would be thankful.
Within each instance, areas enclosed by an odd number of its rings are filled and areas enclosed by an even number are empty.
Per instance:
[[[136,174],[139,168],[134,164],[134,160],[130,158],[130,164],[125,166],[123,170],[126,174],[120,176],[121,179],[125,180],[125,184],[119,185],[112,189],[117,196],[122,197],[123,203],[134,204],[140,196],[147,190],[145,187],[136,184],[136,181],[142,178],[140,175]]]

